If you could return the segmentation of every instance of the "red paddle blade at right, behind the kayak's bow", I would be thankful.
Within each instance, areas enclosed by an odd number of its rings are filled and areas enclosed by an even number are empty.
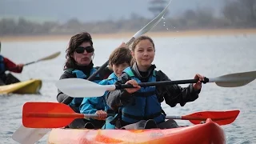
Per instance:
[[[210,118],[212,121],[218,123],[218,125],[227,125],[238,117],[240,113],[239,110],[230,110],[230,111],[203,111],[197,112],[194,114],[182,116],[182,119],[188,119],[193,124],[199,124],[202,121],[206,121],[207,118]],[[202,118],[202,119],[201,119]],[[193,120],[201,119],[201,120]]]

